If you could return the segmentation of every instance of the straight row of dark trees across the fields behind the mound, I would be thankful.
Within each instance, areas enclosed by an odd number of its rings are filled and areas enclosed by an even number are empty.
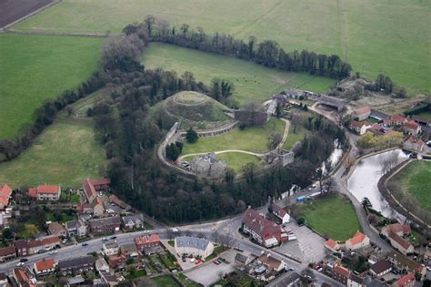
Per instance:
[[[317,54],[306,49],[286,52],[274,40],[258,42],[255,36],[250,36],[247,41],[244,41],[224,33],[209,35],[202,27],[193,29],[187,24],[174,26],[152,15],[146,16],[142,23],[125,26],[123,32],[127,36],[138,35],[151,41],[233,56],[288,72],[305,72],[341,79],[348,77],[352,70],[350,64],[337,55]]]

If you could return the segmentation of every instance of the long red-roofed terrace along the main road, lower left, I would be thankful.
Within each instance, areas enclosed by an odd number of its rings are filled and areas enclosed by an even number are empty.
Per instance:
[[[56,235],[49,235],[39,239],[29,241],[20,240],[14,241],[16,256],[27,256],[37,253],[38,251],[49,251],[55,248],[55,245],[60,244],[60,240]]]

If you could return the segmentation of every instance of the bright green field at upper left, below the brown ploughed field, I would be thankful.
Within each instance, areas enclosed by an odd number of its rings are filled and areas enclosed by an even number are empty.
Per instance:
[[[0,138],[13,138],[45,98],[77,87],[97,67],[100,38],[0,35]]]

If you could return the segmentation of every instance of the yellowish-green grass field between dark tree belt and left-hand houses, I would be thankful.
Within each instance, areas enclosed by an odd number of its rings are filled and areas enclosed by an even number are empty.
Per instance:
[[[103,176],[105,163],[105,151],[95,141],[91,121],[62,113],[33,146],[0,164],[0,182],[13,188],[47,183],[78,189],[84,179]]]

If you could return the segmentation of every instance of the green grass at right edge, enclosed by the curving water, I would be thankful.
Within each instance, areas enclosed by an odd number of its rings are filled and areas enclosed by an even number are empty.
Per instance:
[[[402,169],[391,180],[404,192],[410,193],[424,209],[431,211],[431,161],[413,161]]]

